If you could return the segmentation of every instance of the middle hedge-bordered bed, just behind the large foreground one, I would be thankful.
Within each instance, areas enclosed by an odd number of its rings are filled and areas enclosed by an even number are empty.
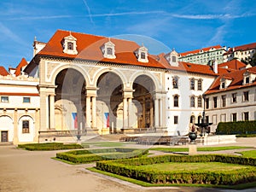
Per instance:
[[[102,148],[91,150],[76,150],[56,154],[56,158],[73,163],[89,163],[98,160],[116,160],[141,157],[148,150],[134,148]]]

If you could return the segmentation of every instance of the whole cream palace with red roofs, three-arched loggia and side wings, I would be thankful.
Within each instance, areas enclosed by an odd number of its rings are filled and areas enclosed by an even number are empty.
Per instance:
[[[230,120],[221,109],[245,108],[239,99],[232,107],[216,107],[233,92],[247,92],[244,119],[255,119],[254,67],[236,60],[199,65],[178,57],[175,50],[150,55],[135,42],[79,32],[58,30],[47,44],[35,39],[32,61],[22,59],[9,73],[0,68],[1,141],[61,141],[67,133],[85,132],[186,135],[201,122],[204,96],[213,103],[206,114],[214,125]],[[245,83],[238,86],[241,77]]]

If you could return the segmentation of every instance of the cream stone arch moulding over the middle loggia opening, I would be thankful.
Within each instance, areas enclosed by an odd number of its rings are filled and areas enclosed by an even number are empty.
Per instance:
[[[125,84],[127,83],[127,79],[125,77],[125,74],[122,73],[120,70],[111,69],[111,68],[100,68],[96,71],[96,73],[93,76],[93,86],[96,87],[98,79],[102,76],[104,73],[115,73],[117,76],[119,76],[119,79],[121,79],[122,84],[124,84],[124,88],[126,87]]]

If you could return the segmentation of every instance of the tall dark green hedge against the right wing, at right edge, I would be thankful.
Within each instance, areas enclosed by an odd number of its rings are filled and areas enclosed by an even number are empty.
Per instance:
[[[220,122],[216,130],[218,135],[230,134],[255,134],[256,120],[236,121],[236,122]]]

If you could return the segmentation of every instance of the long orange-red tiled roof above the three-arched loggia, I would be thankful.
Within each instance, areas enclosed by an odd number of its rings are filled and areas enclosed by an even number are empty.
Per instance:
[[[57,30],[49,42],[45,45],[38,55],[51,57],[61,57],[67,59],[78,59],[87,61],[105,61],[110,63],[119,63],[124,65],[134,65],[142,67],[158,67],[173,70],[182,70],[191,73],[204,73],[216,75],[211,67],[179,62],[178,67],[172,67],[166,61],[165,54],[150,55],[148,54],[148,63],[137,61],[134,51],[140,48],[138,44],[132,41],[111,38],[111,42],[115,44],[115,59],[103,58],[101,47],[108,42],[108,38],[84,34],[79,32],[71,32],[74,38],[77,38],[78,55],[68,55],[63,53],[61,41],[70,35],[70,32]]]

